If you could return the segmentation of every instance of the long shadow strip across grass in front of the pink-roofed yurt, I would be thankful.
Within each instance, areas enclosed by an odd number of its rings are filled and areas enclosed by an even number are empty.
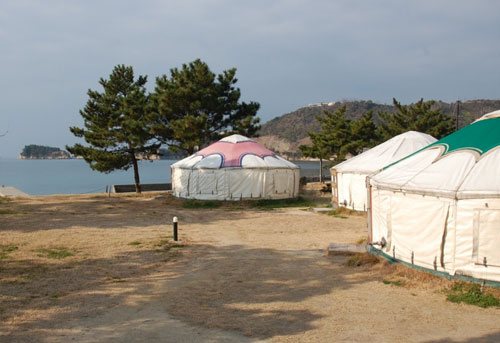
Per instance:
[[[2,231],[34,232],[67,229],[74,226],[115,229],[130,226],[172,225],[177,216],[181,223],[208,224],[228,209],[185,209],[182,201],[166,198],[75,196],[12,200],[1,204]],[[229,211],[248,209],[229,209]],[[3,211],[3,212],[2,212]],[[258,211],[247,211],[255,215]]]

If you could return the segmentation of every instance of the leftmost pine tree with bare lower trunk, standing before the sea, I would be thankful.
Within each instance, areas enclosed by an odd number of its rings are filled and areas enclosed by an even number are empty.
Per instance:
[[[133,167],[137,193],[141,192],[137,161],[155,154],[159,148],[159,144],[152,142],[146,82],[146,76],[134,80],[132,67],[124,65],[116,66],[108,80],[101,78],[99,83],[104,91],[89,89],[89,100],[80,111],[84,128],[70,128],[89,145],[66,147],[100,172]]]

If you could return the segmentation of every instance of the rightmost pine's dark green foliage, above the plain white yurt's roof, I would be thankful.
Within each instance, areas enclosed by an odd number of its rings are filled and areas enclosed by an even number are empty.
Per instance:
[[[412,105],[401,105],[393,99],[395,113],[381,112],[382,124],[378,127],[382,141],[407,131],[427,133],[437,139],[449,135],[455,130],[455,121],[434,106],[435,101],[420,99]]]

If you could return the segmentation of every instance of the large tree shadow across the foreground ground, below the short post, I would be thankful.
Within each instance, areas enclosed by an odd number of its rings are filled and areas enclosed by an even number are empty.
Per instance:
[[[57,330],[76,326],[92,332],[88,342],[108,339],[110,331],[114,341],[127,341],[132,333],[168,330],[162,313],[259,339],[300,334],[322,318],[301,302],[369,281],[316,252],[243,246],[131,251],[55,266],[1,263],[0,340],[8,342],[52,342]]]

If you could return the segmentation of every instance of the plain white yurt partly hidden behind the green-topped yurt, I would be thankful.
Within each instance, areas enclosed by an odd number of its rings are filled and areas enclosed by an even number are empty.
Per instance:
[[[366,211],[366,177],[435,141],[428,134],[408,131],[337,164],[330,169],[332,202],[356,211]]]

